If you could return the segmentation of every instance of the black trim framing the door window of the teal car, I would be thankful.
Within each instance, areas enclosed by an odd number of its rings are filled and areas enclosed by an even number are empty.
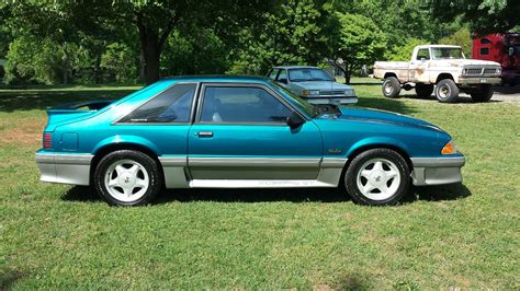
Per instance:
[[[227,126],[287,126],[286,123],[210,123],[210,121],[201,121],[201,115],[202,115],[202,105],[203,105],[203,100],[204,100],[204,92],[206,88],[211,86],[224,86],[224,88],[260,88],[265,90],[269,94],[271,94],[273,97],[275,97],[278,101],[282,103],[290,112],[296,113],[299,115],[304,120],[308,120],[307,116],[302,114],[298,108],[295,108],[291,103],[284,100],[278,92],[272,90],[265,84],[262,83],[238,83],[238,82],[203,82],[201,85],[201,89],[199,91],[199,102],[196,105],[196,115],[195,115],[195,120],[194,125],[227,125]]]

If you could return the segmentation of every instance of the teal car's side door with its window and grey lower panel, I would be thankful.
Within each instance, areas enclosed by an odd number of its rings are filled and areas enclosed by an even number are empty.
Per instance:
[[[193,179],[315,179],[323,155],[318,127],[291,129],[294,108],[262,84],[203,84],[189,133]]]

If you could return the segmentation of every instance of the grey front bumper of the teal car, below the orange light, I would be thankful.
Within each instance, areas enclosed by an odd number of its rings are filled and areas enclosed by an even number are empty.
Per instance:
[[[416,186],[442,185],[462,182],[464,155],[450,158],[411,158],[411,181]]]

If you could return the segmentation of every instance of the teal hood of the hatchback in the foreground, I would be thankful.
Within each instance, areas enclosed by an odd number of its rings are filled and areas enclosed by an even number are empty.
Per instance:
[[[354,109],[340,107],[341,114],[337,115],[321,115],[320,118],[335,118],[337,120],[350,120],[350,121],[362,121],[362,123],[375,123],[385,125],[395,125],[400,127],[412,127],[421,128],[438,132],[445,132],[438,126],[429,124],[425,120],[412,118],[397,113],[376,110],[376,109]]]

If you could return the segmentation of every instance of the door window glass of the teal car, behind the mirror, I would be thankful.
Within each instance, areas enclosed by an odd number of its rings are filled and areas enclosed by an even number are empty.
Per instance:
[[[276,97],[255,86],[208,86],[204,91],[201,123],[285,123],[291,110]]]

